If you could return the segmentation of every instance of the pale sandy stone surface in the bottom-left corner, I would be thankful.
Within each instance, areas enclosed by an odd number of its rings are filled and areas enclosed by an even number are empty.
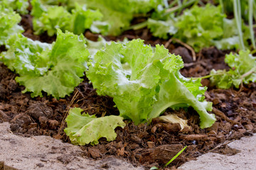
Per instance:
[[[13,169],[143,169],[114,157],[86,159],[78,146],[52,137],[21,137],[11,133],[9,123],[0,123],[0,170]]]

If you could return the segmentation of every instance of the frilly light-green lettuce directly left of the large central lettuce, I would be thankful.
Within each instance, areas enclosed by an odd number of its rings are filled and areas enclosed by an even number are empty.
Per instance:
[[[87,68],[89,52],[85,38],[58,30],[53,45],[33,41],[23,35],[9,40],[10,49],[1,60],[19,74],[16,81],[30,91],[31,96],[43,96],[42,91],[63,98],[78,86]]]

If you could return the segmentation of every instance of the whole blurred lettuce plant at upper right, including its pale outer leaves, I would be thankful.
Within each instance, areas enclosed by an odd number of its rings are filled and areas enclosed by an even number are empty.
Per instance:
[[[149,18],[147,26],[154,36],[178,38],[198,52],[203,47],[215,45],[220,50],[238,49],[240,40],[235,20],[225,18],[220,6],[207,4],[186,9],[181,16]],[[244,42],[250,38],[249,29],[242,24]]]

